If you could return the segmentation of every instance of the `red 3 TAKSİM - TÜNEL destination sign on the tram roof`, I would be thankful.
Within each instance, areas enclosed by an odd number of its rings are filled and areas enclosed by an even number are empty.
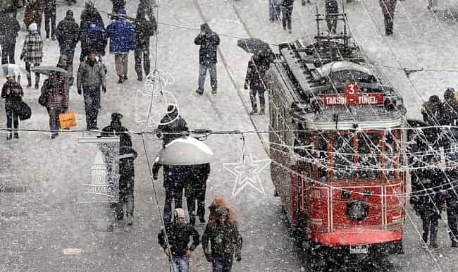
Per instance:
[[[383,104],[385,93],[360,93],[357,83],[349,82],[345,85],[343,94],[318,94],[318,97],[323,99],[325,106],[378,105]]]

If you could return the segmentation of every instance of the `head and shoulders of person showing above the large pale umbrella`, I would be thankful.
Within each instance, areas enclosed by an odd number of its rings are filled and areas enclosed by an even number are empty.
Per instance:
[[[162,138],[163,148],[182,135],[189,135],[189,128],[187,128],[186,120],[180,116],[176,104],[168,104],[167,113],[161,119],[157,127],[156,135],[158,138]]]

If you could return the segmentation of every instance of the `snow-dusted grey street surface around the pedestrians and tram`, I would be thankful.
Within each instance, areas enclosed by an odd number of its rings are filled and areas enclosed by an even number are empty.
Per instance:
[[[202,18],[193,1],[160,1],[159,22],[199,28]],[[254,37],[277,44],[302,36],[313,37],[315,28],[315,4],[301,6],[295,3],[293,10],[292,35],[282,32],[278,23],[268,20],[267,0],[241,0],[233,4],[239,11]],[[313,1],[314,2],[314,1]],[[323,10],[324,0],[318,1]],[[424,1],[426,2],[426,1]],[[214,31],[221,35],[248,37],[238,20],[230,1],[198,0],[204,16]],[[447,4],[447,6],[445,6]],[[78,1],[79,6],[84,3]],[[96,1],[101,11],[111,11],[110,1]],[[135,15],[137,1],[130,1],[127,11]],[[357,42],[377,63],[386,66],[426,69],[456,68],[458,23],[450,16],[447,8],[456,18],[458,6],[452,0],[439,1],[437,15],[426,10],[421,1],[398,1],[395,16],[395,34],[383,33],[383,16],[377,0],[354,1],[346,6],[350,27]],[[67,6],[58,6],[58,21],[63,18]],[[72,7],[79,23],[82,8]],[[109,19],[102,13],[106,23]],[[21,15],[18,16],[19,19]],[[375,21],[375,24],[373,22]],[[377,27],[377,28],[375,28]],[[42,30],[44,33],[44,29]],[[20,32],[16,56],[22,49],[24,32]],[[171,73],[175,82],[166,90],[178,100],[182,116],[190,128],[209,130],[252,130],[247,111],[237,92],[242,92],[245,104],[249,105],[248,92],[234,88],[230,77],[221,63],[218,63],[218,94],[206,92],[202,97],[195,94],[198,75],[198,49],[194,45],[197,31],[185,28],[159,25],[157,66]],[[151,59],[154,64],[155,39],[151,39]],[[249,54],[237,47],[237,39],[221,36],[223,56],[235,82],[240,87],[245,78]],[[390,47],[395,56],[392,56]],[[56,42],[44,42],[44,64],[54,65],[58,59]],[[75,54],[75,71],[78,68],[79,46]],[[18,60],[17,60],[18,61]],[[18,62],[23,65],[22,62]],[[112,112],[124,114],[123,123],[133,130],[140,130],[135,123],[135,102],[137,90],[143,88],[135,78],[133,53],[129,58],[129,80],[117,84],[113,56],[107,54],[104,63],[109,68],[108,91],[102,94],[102,109],[99,114],[99,128],[108,125]],[[442,92],[447,86],[456,86],[454,73],[414,73],[410,76],[414,87],[401,70],[383,68],[393,85],[400,90],[407,104],[408,116],[418,118],[421,101],[431,94]],[[4,82],[2,79],[1,83]],[[418,92],[417,92],[418,91]],[[85,128],[85,114],[82,97],[71,89],[70,110],[78,117],[78,128]],[[32,106],[32,118],[21,123],[21,128],[48,128],[48,116],[39,106],[39,90],[25,89],[25,101]],[[4,102],[0,102],[4,108]],[[163,109],[165,110],[165,109]],[[3,111],[3,110],[2,110]],[[267,128],[268,115],[254,116],[254,123],[261,129]],[[4,114],[0,124],[6,127]],[[140,156],[135,161],[135,223],[131,228],[123,225],[113,233],[92,225],[92,211],[104,209],[101,204],[80,204],[75,201],[75,191],[80,183],[80,173],[86,162],[92,158],[78,146],[78,134],[61,133],[56,140],[49,140],[47,133],[22,132],[19,140],[6,142],[0,139],[0,249],[1,271],[168,271],[168,261],[157,244],[157,233],[161,228],[154,201],[151,180],[149,180],[146,157],[142,140],[133,136],[134,147]],[[264,139],[268,139],[264,135]],[[265,159],[266,152],[256,135],[247,135],[247,147],[255,159]],[[223,163],[240,159],[242,140],[240,135],[211,135],[206,144],[213,149],[215,160],[208,182],[208,203],[217,194],[223,194],[228,203],[237,211],[240,232],[244,237],[242,262],[235,264],[233,271],[301,271],[304,264],[297,256],[292,239],[282,221],[279,199],[273,197],[273,185],[268,169],[261,173],[265,192],[261,194],[246,187],[232,196],[235,177],[223,168]],[[161,142],[147,139],[149,159],[159,151]],[[88,170],[88,169],[86,169]],[[163,204],[162,179],[155,183],[159,189],[159,203]],[[3,189],[1,189],[3,188]],[[394,264],[392,271],[456,271],[457,249],[450,248],[446,233],[447,226],[440,222],[439,248],[431,254],[421,247],[419,218],[410,208],[407,210],[412,222],[407,220],[404,232],[402,256],[390,257]],[[445,218],[445,216],[444,216]],[[204,226],[197,227],[202,234]],[[78,248],[78,255],[65,255],[63,249]],[[192,271],[210,271],[211,266],[204,259],[202,248],[194,252]],[[304,267],[307,271],[307,266]]]

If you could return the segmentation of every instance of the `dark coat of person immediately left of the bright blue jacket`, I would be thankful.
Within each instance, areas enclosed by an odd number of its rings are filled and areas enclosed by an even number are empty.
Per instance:
[[[101,30],[98,35],[89,35],[87,30],[89,26],[94,24],[94,26]],[[104,21],[101,19],[100,13],[95,10],[85,9],[81,13],[81,22],[80,22],[80,41],[81,41],[81,51],[85,55],[89,55],[91,51],[96,51],[97,54],[105,56],[105,47],[107,44],[106,30]]]

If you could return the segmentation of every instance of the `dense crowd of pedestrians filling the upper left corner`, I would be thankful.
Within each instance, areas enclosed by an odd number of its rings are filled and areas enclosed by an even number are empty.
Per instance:
[[[10,3],[11,2],[11,3]],[[9,4],[8,4],[9,3]],[[68,5],[73,0],[68,1]],[[113,0],[112,22],[105,26],[94,2],[89,0],[81,13],[80,24],[75,22],[73,11],[66,11],[66,16],[56,25],[56,0],[8,0],[0,3],[0,47],[1,64],[7,81],[2,90],[6,99],[5,111],[7,128],[18,129],[20,112],[24,105],[23,87],[20,84],[20,72],[16,66],[15,49],[20,23],[16,19],[18,9],[24,6],[24,25],[27,29],[20,60],[25,63],[27,88],[32,87],[32,74],[35,74],[35,89],[40,88],[40,74],[48,78],[42,82],[39,104],[49,113],[51,139],[58,135],[61,127],[59,116],[68,113],[70,100],[69,89],[75,81],[73,78],[73,59],[75,47],[81,44],[80,66],[78,68],[76,87],[78,94],[85,101],[86,128],[98,130],[97,116],[101,109],[101,92],[106,93],[106,73],[108,70],[102,57],[108,42],[109,51],[115,57],[118,83],[128,80],[128,54],[135,51],[135,71],[137,80],[143,80],[143,72],[150,71],[149,38],[157,32],[154,18],[155,1],[141,0],[137,16],[130,18],[125,13],[125,1]],[[56,40],[60,56],[56,66],[43,66],[44,51],[41,35],[42,17],[46,39]],[[20,90],[20,92],[18,91]],[[18,94],[16,95],[16,91]],[[26,93],[27,94],[27,93]],[[13,137],[13,131],[7,140]],[[14,132],[18,138],[18,132]]]

